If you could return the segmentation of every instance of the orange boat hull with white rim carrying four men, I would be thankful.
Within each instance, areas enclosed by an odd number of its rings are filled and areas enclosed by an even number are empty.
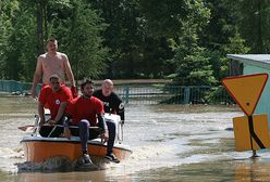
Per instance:
[[[77,138],[68,140],[65,138],[26,136],[21,143],[26,161],[44,162],[56,156],[66,156],[74,161],[82,156],[82,144]],[[102,144],[100,139],[88,141],[88,154],[95,157],[105,157],[107,145]],[[132,151],[127,145],[116,143],[113,154],[123,160],[130,157]]]

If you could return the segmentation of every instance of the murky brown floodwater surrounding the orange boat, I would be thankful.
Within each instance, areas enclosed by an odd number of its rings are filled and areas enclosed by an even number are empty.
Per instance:
[[[234,151],[236,106],[127,105],[124,144],[133,154],[99,171],[62,171],[59,164],[25,162],[19,126],[34,123],[30,98],[0,96],[0,181],[270,181],[270,154]],[[63,165],[63,164],[62,164]],[[49,169],[49,170],[48,170]]]

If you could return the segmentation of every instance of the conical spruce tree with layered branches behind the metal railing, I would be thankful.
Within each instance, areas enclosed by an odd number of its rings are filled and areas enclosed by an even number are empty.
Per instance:
[[[212,75],[206,50],[197,44],[195,28],[185,24],[182,28],[181,42],[175,48],[173,63],[176,67],[174,81],[181,86],[211,86],[216,78]]]

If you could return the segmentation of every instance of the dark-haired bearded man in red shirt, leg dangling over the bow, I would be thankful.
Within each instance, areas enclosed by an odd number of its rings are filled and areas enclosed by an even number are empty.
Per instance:
[[[81,90],[83,95],[74,99],[66,108],[68,119],[64,122],[64,135],[68,139],[71,138],[71,134],[79,136],[84,164],[91,165],[93,162],[87,151],[87,141],[96,139],[101,133],[101,138],[107,142],[110,131],[108,131],[103,118],[103,103],[93,96],[94,83],[90,80],[86,80],[81,84]],[[70,123],[71,118],[72,121]],[[78,126],[78,130],[70,129],[70,125]],[[90,126],[99,127],[100,130],[89,130]]]

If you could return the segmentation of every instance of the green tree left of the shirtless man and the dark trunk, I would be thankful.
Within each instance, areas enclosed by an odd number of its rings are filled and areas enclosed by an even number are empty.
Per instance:
[[[36,65],[36,39],[33,37],[36,32],[35,17],[27,10],[21,10],[19,13],[20,16],[13,25],[15,30],[9,40],[14,50],[9,52],[7,68],[17,74],[15,79],[32,80]]]

